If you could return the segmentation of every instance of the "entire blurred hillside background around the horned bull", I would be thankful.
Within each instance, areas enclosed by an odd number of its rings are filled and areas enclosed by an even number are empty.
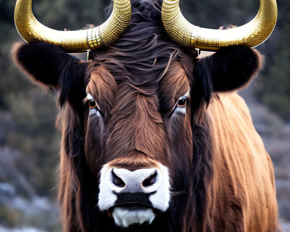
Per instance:
[[[0,0],[0,231],[61,231],[56,202],[60,133],[55,129],[57,93],[30,84],[14,68],[10,50],[21,41],[14,26],[16,0]],[[108,0],[34,0],[33,12],[46,26],[77,30],[105,20]],[[242,25],[258,12],[258,0],[182,0],[195,25]],[[271,155],[280,220],[290,231],[290,0],[278,1],[271,37],[257,49],[264,70],[240,94]],[[83,54],[85,59],[86,54]]]

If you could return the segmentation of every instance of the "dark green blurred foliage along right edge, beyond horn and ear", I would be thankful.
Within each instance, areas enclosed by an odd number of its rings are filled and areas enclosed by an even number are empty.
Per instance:
[[[290,122],[290,1],[278,1],[278,21],[263,51],[266,65],[256,86],[256,96]],[[271,53],[270,53],[271,52]]]

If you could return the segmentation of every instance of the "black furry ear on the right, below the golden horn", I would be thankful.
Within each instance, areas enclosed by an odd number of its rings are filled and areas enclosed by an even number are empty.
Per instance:
[[[246,87],[262,66],[255,49],[229,46],[195,63],[194,78],[207,92],[226,92]],[[202,79],[202,80],[199,80]],[[207,96],[209,97],[209,96]]]

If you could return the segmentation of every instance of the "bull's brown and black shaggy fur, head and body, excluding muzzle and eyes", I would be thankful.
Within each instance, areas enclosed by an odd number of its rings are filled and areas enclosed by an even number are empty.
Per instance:
[[[236,46],[196,59],[166,35],[161,1],[131,4],[128,30],[88,62],[40,42],[13,50],[32,81],[59,90],[64,231],[278,231],[271,159],[235,93],[255,77],[260,55]],[[186,113],[175,112],[188,90]],[[100,117],[89,115],[87,93]],[[102,166],[157,162],[169,170],[169,209],[151,225],[115,226],[97,207]]]

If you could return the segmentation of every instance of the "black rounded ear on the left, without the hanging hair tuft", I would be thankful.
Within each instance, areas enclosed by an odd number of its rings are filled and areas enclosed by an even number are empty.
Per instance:
[[[58,87],[61,81],[59,77],[67,65],[81,61],[59,47],[44,42],[17,43],[13,46],[12,58],[32,82],[54,87]]]

